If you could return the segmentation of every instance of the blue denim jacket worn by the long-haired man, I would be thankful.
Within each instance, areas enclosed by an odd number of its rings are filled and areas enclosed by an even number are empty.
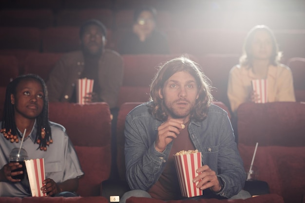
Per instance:
[[[154,148],[162,122],[149,113],[147,104],[133,109],[125,122],[126,180],[131,189],[145,191],[159,179],[172,156],[172,142],[162,153]],[[202,152],[202,165],[210,166],[224,182],[218,194],[227,198],[236,195],[244,187],[246,172],[227,112],[212,104],[206,119],[191,121],[188,130],[193,145]]]

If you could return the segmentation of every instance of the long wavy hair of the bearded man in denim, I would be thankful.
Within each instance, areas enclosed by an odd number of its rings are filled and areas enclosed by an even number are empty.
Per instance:
[[[150,105],[152,115],[161,121],[168,118],[168,114],[165,111],[166,108],[164,106],[164,101],[159,96],[159,90],[164,87],[165,82],[173,74],[180,71],[188,72],[195,78],[199,97],[196,100],[193,110],[190,112],[190,118],[195,121],[202,121],[207,117],[207,111],[213,99],[210,93],[210,80],[203,74],[199,65],[186,56],[174,58],[166,62],[155,75],[151,84],[150,96],[150,100],[152,101]]]

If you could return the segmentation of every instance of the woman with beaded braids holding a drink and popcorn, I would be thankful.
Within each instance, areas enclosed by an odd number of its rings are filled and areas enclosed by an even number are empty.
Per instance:
[[[22,174],[19,163],[9,163],[13,148],[27,151],[29,159],[44,158],[44,186],[47,196],[75,196],[81,170],[76,151],[65,129],[48,119],[46,85],[38,75],[21,75],[6,88],[2,122],[0,122],[0,196],[31,196],[27,178],[14,179]],[[26,129],[25,134],[24,129]]]

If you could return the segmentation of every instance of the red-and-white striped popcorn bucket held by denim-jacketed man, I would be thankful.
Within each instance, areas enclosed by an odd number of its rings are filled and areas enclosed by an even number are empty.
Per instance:
[[[197,183],[192,180],[198,176],[197,168],[201,167],[201,152],[174,155],[174,162],[178,174],[181,194],[183,197],[195,197],[203,194],[202,190],[196,187]]]

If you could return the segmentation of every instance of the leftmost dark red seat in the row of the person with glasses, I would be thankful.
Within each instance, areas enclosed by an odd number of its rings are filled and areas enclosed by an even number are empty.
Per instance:
[[[1,49],[40,50],[40,29],[32,27],[0,27]]]

